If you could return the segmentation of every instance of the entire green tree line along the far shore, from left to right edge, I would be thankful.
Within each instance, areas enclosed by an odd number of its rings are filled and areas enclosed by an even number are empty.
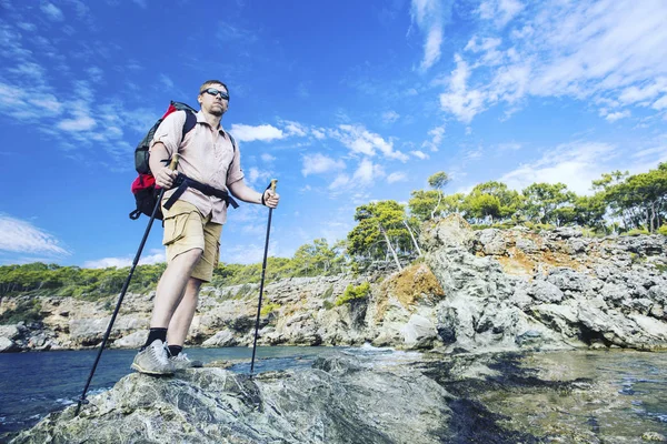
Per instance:
[[[498,181],[480,183],[469,193],[446,194],[449,181],[446,172],[437,172],[428,178],[430,189],[412,191],[407,204],[386,200],[358,206],[356,225],[345,240],[329,245],[326,239],[316,239],[299,246],[292,258],[269,258],[267,282],[358,271],[377,263],[400,269],[406,260],[421,255],[418,241],[421,225],[450,214],[459,214],[477,228],[576,224],[599,234],[667,234],[667,163],[641,174],[605,173],[593,181],[591,195],[577,195],[564,183],[534,183],[519,192]],[[129,291],[153,290],[165,268],[165,263],[137,266]],[[128,272],[129,268],[3,265],[0,297],[43,294],[98,300],[117,295]],[[211,284],[257,283],[260,278],[260,263],[220,263]]]

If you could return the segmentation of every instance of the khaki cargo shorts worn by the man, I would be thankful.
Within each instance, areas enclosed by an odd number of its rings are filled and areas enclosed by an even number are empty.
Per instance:
[[[222,225],[211,222],[211,214],[205,218],[197,206],[189,202],[176,201],[171,209],[162,208],[167,263],[186,251],[201,249],[203,254],[192,270],[192,278],[210,282],[213,269],[220,260],[220,235]]]

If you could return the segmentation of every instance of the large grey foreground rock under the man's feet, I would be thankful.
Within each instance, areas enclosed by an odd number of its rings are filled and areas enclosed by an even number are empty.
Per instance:
[[[135,373],[78,417],[73,406],[51,414],[14,442],[427,444],[451,436],[449,398],[409,366],[389,373],[346,356],[255,379],[216,367]]]

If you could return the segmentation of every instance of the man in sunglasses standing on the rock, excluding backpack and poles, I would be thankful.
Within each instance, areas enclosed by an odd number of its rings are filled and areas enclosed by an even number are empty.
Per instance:
[[[211,281],[218,264],[227,206],[236,205],[226,191],[271,209],[279,201],[270,189],[260,193],[243,181],[238,147],[221,125],[229,107],[227,85],[219,80],[203,82],[197,101],[201,110],[195,114],[197,124],[191,131],[183,137],[186,111],[172,112],[160,123],[150,147],[150,170],[156,183],[168,190],[162,199],[167,270],[158,283],[148,339],[132,362],[132,369],[147,374],[172,374],[202,365],[190,361],[182,350],[201,283]],[[172,171],[167,164],[177,152],[178,168]],[[178,185],[179,173],[199,186],[188,182],[171,189]],[[177,200],[169,201],[173,193]]]

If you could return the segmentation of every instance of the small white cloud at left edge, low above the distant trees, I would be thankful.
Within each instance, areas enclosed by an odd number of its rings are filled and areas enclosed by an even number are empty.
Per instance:
[[[53,235],[30,222],[0,213],[0,251],[26,254],[69,255]]]

